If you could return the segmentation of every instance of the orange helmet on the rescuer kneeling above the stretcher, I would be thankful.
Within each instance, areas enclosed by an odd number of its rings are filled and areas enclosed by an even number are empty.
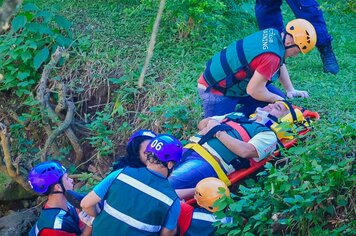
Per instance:
[[[294,43],[303,54],[311,51],[316,44],[316,32],[314,26],[307,20],[295,19],[286,26],[286,31],[293,36]]]

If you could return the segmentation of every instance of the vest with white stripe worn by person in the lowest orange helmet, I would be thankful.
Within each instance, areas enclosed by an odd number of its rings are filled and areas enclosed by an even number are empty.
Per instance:
[[[214,222],[220,221],[222,223],[232,223],[232,217],[225,217],[217,219],[213,213],[204,208],[195,208],[192,216],[190,226],[185,232],[185,236],[209,236],[214,235],[216,228],[213,226]]]

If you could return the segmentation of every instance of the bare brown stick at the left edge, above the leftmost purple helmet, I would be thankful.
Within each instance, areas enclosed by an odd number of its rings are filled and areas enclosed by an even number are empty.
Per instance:
[[[24,189],[27,191],[31,191],[30,186],[27,184],[26,180],[16,173],[14,166],[12,165],[11,154],[10,154],[10,145],[9,140],[7,137],[7,130],[6,126],[0,123],[0,139],[1,139],[1,146],[4,153],[4,162],[5,166],[1,163],[0,160],[0,171],[2,173],[7,173],[15,182],[20,184]]]

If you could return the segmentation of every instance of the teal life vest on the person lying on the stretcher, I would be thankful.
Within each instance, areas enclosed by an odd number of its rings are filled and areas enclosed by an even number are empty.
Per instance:
[[[261,132],[271,131],[271,129],[267,128],[266,126],[257,122],[248,121],[247,118],[236,115],[236,113],[226,116],[226,119],[221,122],[221,124],[230,127],[229,129],[224,129],[228,135],[244,142],[248,142],[252,137]],[[204,139],[204,136],[201,137]],[[236,160],[246,161],[249,163],[247,159],[241,158],[230,151],[219,139],[215,137],[208,138],[206,143],[212,149],[214,149],[217,154],[219,154],[219,156],[226,164],[234,166],[236,170],[239,169],[238,166],[235,166],[234,162]],[[201,145],[203,144],[201,143]]]

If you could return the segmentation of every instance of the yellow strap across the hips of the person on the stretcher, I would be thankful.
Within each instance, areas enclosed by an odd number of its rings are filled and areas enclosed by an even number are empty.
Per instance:
[[[231,182],[223,169],[220,167],[219,163],[215,160],[215,158],[207,151],[205,148],[203,148],[201,145],[197,143],[189,143],[184,146],[185,148],[188,149],[193,149],[196,153],[198,153],[202,158],[204,158],[210,165],[213,167],[214,171],[218,175],[219,179],[224,181],[224,183],[227,186],[231,185]]]

